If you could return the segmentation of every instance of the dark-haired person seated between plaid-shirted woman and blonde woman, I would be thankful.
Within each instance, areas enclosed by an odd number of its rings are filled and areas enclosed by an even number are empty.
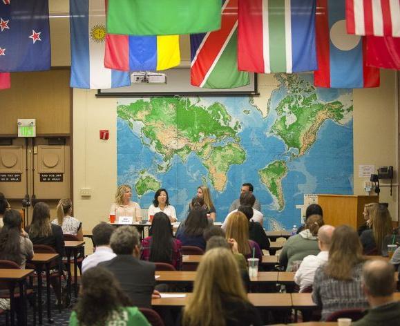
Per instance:
[[[182,246],[194,246],[205,250],[203,233],[209,226],[206,211],[201,207],[193,207],[186,220],[180,223],[175,237],[182,242]]]

